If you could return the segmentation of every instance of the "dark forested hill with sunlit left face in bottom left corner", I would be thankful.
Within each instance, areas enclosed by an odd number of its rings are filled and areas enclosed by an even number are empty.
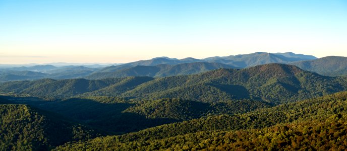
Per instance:
[[[96,132],[59,115],[0,99],[0,150],[49,150]]]

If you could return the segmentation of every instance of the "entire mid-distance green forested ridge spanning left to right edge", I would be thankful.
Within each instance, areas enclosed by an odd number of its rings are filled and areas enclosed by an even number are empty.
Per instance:
[[[129,77],[7,82],[0,86],[0,91],[3,94],[43,98],[80,95],[150,100],[179,98],[201,102],[251,99],[280,104],[336,93],[346,88],[343,77],[325,77],[294,65],[265,64],[156,79]]]

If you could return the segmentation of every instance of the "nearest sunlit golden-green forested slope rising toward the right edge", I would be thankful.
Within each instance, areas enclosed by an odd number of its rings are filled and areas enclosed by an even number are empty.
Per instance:
[[[347,93],[166,124],[120,136],[67,143],[56,150],[346,149]]]

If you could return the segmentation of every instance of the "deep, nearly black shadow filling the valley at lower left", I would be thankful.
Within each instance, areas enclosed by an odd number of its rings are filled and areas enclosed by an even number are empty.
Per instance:
[[[98,130],[103,135],[124,134],[162,124],[178,122],[170,118],[146,118],[135,113],[123,113],[133,106],[131,103],[100,103],[91,99],[73,98],[64,101],[31,101],[25,98],[12,100],[11,103],[28,104],[36,108],[54,112],[73,119],[83,125]]]

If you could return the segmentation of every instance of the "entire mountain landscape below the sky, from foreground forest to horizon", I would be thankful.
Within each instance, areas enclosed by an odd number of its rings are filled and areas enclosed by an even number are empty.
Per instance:
[[[0,150],[346,150],[345,57],[0,70]]]

